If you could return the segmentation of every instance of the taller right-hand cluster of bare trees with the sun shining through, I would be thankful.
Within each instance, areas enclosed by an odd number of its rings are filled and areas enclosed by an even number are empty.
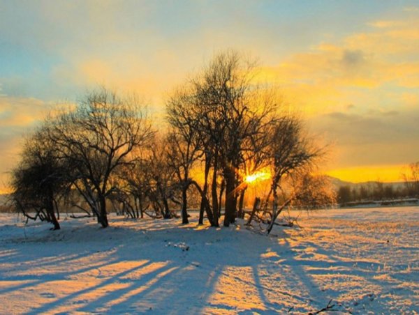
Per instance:
[[[270,169],[272,178],[268,199],[272,194],[274,222],[281,212],[279,201],[288,205],[307,196],[308,174],[325,153],[304,137],[300,119],[280,107],[276,91],[255,83],[255,71],[255,63],[236,52],[219,54],[173,93],[167,104],[170,132],[177,135],[173,150],[182,156],[179,180],[186,190],[196,183],[189,178],[189,169],[196,163],[203,165],[200,213],[206,210],[214,226],[219,225],[222,200],[224,226],[243,215],[244,175],[264,168]],[[296,183],[302,178],[307,185],[291,185],[293,189],[284,194],[286,180]],[[322,191],[321,185],[309,185],[309,190]],[[327,196],[326,203],[332,203],[333,194],[328,191]],[[186,215],[186,201],[183,204]]]

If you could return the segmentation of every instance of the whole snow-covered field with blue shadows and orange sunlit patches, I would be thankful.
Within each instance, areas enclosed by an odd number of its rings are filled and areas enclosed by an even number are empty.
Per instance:
[[[419,313],[418,207],[304,212],[270,237],[195,217],[61,219],[50,231],[0,215],[0,314],[300,314],[330,299],[340,313]]]

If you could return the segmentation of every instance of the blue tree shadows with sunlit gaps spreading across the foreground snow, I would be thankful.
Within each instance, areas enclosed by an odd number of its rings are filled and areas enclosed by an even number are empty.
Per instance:
[[[17,245],[8,263],[23,269],[0,270],[11,282],[0,294],[29,293],[22,303],[31,314],[307,312],[330,298],[286,239],[280,245],[242,225],[112,223],[76,233],[64,227],[46,243]]]

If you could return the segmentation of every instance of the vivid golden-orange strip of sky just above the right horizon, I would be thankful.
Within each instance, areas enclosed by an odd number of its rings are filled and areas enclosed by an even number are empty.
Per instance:
[[[367,181],[399,182],[402,181],[402,169],[405,165],[379,165],[332,169],[325,174],[351,183]]]

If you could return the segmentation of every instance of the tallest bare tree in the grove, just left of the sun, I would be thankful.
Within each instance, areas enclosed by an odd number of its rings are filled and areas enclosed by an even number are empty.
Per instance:
[[[219,203],[216,198],[219,171],[226,183],[225,226],[235,220],[237,174],[244,152],[251,149],[251,138],[263,133],[263,121],[276,105],[260,97],[262,89],[253,83],[254,66],[237,52],[224,52],[216,55],[193,80],[198,105],[196,127],[208,139],[206,145],[212,153],[213,210]]]

